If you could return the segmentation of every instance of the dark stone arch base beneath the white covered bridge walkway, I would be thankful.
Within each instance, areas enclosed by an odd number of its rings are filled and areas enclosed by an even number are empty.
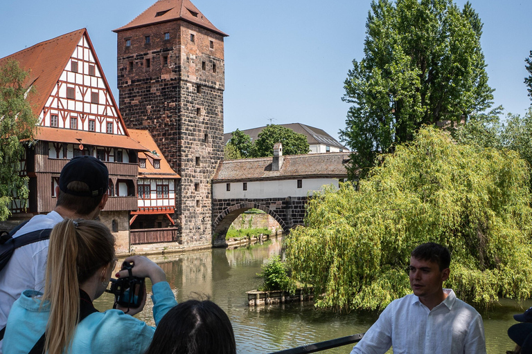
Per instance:
[[[303,225],[306,196],[255,199],[213,199],[213,245],[225,245],[225,235],[231,223],[251,208],[260,209],[277,221],[283,232]]]

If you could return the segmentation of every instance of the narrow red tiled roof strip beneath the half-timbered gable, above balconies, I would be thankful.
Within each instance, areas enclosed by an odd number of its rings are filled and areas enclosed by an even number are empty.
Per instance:
[[[35,140],[51,142],[66,142],[69,144],[87,144],[97,147],[121,147],[123,149],[147,150],[143,145],[129,136],[116,134],[94,133],[91,131],[57,129],[50,127],[37,127]]]

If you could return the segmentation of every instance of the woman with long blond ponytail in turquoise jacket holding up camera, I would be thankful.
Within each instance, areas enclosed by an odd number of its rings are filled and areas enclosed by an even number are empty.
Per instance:
[[[145,257],[129,257],[135,277],[152,281],[153,317],[158,324],[175,306],[166,274]],[[155,328],[132,317],[139,308],[119,306],[97,312],[92,301],[107,288],[116,258],[114,236],[98,221],[65,219],[50,236],[44,294],[26,290],[13,305],[3,339],[3,353],[29,353],[44,335],[44,350],[60,353],[144,353]],[[126,277],[127,270],[116,274]],[[129,310],[127,315],[124,310]],[[79,314],[87,314],[78,323]],[[42,352],[41,352],[42,353]]]

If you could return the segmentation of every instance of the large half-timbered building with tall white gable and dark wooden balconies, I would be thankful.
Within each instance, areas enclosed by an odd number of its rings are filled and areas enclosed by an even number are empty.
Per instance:
[[[87,30],[35,44],[0,59],[0,66],[12,59],[29,71],[26,84],[34,93],[27,99],[39,117],[20,171],[29,177],[30,196],[14,201],[14,216],[53,210],[62,167],[74,156],[95,156],[109,169],[109,201],[100,219],[117,236],[118,250],[127,251],[129,213],[138,209],[137,155],[145,147],[125,128]]]

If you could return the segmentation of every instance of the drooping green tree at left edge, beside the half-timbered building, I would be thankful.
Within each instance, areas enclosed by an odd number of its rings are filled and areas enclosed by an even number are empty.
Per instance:
[[[21,140],[30,140],[37,118],[26,95],[28,73],[15,61],[0,67],[0,220],[10,216],[13,198],[28,198],[27,177],[19,176],[17,167],[24,156]]]

